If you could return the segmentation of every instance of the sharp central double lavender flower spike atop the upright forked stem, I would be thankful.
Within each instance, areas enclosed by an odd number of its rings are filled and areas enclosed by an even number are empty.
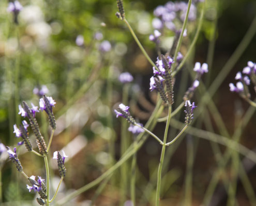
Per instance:
[[[174,63],[169,56],[157,58],[157,68],[153,67],[154,76],[150,78],[150,91],[157,90],[165,104],[173,104],[173,77],[171,75],[171,66]],[[166,84],[166,90],[163,87],[163,81]]]

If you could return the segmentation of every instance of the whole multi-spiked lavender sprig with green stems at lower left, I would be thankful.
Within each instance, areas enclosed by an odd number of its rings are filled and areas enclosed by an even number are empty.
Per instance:
[[[45,89],[44,89],[45,90]],[[41,93],[40,93],[41,94]],[[13,133],[16,134],[17,138],[22,138],[22,141],[18,143],[18,145],[24,144],[28,152],[32,152],[35,155],[41,157],[44,159],[44,164],[46,167],[46,179],[42,179],[40,176],[36,177],[33,175],[31,177],[28,177],[26,173],[24,172],[24,169],[22,167],[22,164],[17,156],[17,148],[14,147],[14,151],[12,151],[9,147],[7,152],[9,154],[9,159],[16,165],[17,170],[20,171],[20,173],[28,180],[29,185],[27,184],[27,189],[29,192],[34,191],[35,193],[38,193],[40,198],[37,198],[37,202],[40,205],[50,205],[50,203],[54,200],[56,197],[56,194],[58,192],[59,186],[61,185],[61,182],[63,181],[65,174],[66,174],[66,168],[64,166],[64,161],[66,156],[65,152],[63,151],[63,156],[59,151],[55,151],[53,153],[53,159],[57,160],[59,175],[61,176],[61,180],[59,181],[57,190],[54,194],[54,196],[50,199],[50,168],[48,163],[48,152],[51,146],[51,142],[53,139],[53,133],[56,129],[56,122],[55,117],[53,114],[53,107],[55,106],[56,102],[55,100],[50,96],[46,96],[43,94],[42,98],[39,100],[39,106],[41,112],[45,111],[49,117],[49,125],[52,128],[51,136],[49,143],[46,144],[46,141],[44,140],[44,137],[42,136],[40,132],[39,125],[37,123],[36,119],[36,112],[39,112],[38,106],[35,106],[33,103],[31,104],[32,107],[30,108],[25,101],[22,102],[22,105],[19,105],[19,114],[27,118],[29,121],[29,124],[23,120],[22,125],[17,127],[16,124],[13,125]],[[31,141],[29,139],[29,133],[28,128],[29,126],[33,130],[35,136],[36,136],[36,143],[37,143],[37,149],[38,152],[34,150]],[[46,184],[44,183],[46,180]],[[32,186],[31,186],[32,185]]]

